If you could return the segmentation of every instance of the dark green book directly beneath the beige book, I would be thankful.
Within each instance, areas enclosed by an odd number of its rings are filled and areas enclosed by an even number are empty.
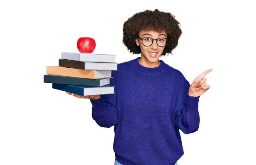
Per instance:
[[[61,76],[61,75],[44,75],[45,83],[55,83],[55,84],[102,87],[104,85],[110,84],[109,81],[110,81],[110,78],[89,79],[89,78],[68,77],[68,76]]]

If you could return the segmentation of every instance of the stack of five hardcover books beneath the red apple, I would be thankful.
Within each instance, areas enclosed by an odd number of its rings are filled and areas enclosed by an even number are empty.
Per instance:
[[[117,64],[116,55],[61,52],[58,66],[47,66],[44,82],[81,96],[114,94],[110,78]]]

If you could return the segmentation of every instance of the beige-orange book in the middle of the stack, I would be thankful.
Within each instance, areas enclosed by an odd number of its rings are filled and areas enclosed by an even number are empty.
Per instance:
[[[47,66],[46,74],[90,79],[112,78],[111,70],[84,70],[60,66]]]

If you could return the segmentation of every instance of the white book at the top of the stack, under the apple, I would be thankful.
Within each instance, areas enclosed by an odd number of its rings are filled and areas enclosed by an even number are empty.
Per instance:
[[[86,62],[116,62],[116,55],[95,54],[95,53],[77,53],[77,52],[61,52],[61,58],[74,61]]]

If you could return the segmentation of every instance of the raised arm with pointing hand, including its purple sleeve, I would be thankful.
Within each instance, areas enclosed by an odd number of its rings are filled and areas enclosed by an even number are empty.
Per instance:
[[[212,69],[208,69],[203,72],[195,78],[191,85],[185,78],[177,84],[175,89],[175,125],[185,134],[193,133],[199,128],[199,97],[210,88],[209,85],[207,86],[204,76],[211,71]]]

